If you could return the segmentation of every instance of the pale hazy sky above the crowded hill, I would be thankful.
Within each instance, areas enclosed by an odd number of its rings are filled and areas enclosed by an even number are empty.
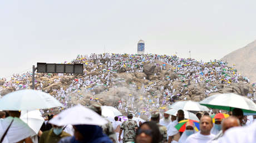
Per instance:
[[[146,53],[220,59],[256,39],[256,1],[0,1],[0,77],[77,54]]]

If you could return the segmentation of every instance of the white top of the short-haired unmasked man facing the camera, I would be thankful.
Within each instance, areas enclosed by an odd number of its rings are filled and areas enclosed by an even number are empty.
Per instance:
[[[190,135],[188,137],[188,139],[186,139],[186,143],[205,143],[210,141],[211,139],[213,139],[215,137],[215,135],[210,134],[210,135],[202,135],[200,132],[196,132],[193,135]]]

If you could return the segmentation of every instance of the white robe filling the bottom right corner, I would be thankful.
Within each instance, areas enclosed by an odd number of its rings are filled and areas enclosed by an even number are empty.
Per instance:
[[[228,129],[219,142],[256,142],[256,121],[249,126],[232,127]]]

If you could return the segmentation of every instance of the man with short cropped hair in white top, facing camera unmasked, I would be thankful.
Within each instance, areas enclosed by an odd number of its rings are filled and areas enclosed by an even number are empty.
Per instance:
[[[200,120],[200,131],[190,135],[188,139],[186,139],[186,143],[203,143],[208,142],[215,137],[215,135],[211,134],[211,128],[213,128],[213,120],[208,115],[204,115]]]

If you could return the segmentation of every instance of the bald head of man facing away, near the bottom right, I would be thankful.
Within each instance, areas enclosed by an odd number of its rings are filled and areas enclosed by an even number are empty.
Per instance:
[[[240,121],[238,120],[238,118],[236,118],[235,116],[229,116],[228,118],[225,118],[222,121],[222,131],[223,131],[223,134],[229,128],[234,127],[234,126],[240,126]]]

